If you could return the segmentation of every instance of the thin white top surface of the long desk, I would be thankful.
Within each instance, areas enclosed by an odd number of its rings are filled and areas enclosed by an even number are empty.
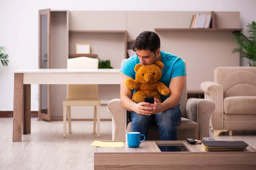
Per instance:
[[[111,69],[73,69],[73,68],[49,68],[49,69],[18,69],[13,71],[14,73],[121,73],[120,68]]]

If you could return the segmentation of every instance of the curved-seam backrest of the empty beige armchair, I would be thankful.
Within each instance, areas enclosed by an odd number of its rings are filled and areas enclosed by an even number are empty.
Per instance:
[[[218,67],[214,82],[222,85],[223,97],[256,96],[256,67]]]

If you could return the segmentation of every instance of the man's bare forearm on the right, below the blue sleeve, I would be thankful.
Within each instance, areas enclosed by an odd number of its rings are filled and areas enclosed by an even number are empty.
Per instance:
[[[169,85],[171,94],[163,103],[161,103],[161,111],[174,108],[180,103],[182,91],[185,86],[185,78],[185,76],[179,76],[171,79]]]

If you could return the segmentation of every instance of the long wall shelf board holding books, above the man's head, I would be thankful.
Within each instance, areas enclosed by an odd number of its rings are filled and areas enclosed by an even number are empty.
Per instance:
[[[154,31],[242,31],[242,28],[155,28]]]

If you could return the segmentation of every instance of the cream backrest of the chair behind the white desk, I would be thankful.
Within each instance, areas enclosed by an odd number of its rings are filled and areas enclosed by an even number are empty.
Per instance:
[[[67,59],[67,68],[98,69],[99,59],[77,57]],[[98,99],[98,85],[67,85],[67,99]]]

